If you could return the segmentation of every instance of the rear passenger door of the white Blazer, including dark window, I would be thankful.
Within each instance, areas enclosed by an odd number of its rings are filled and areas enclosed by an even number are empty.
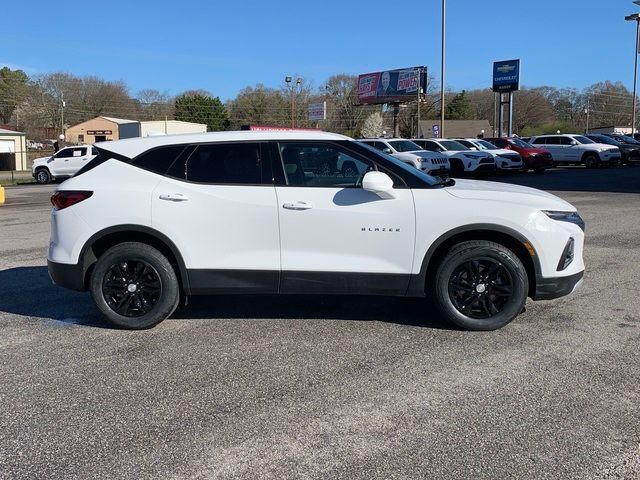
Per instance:
[[[160,160],[176,160],[158,178],[152,225],[180,250],[191,291],[277,292],[278,209],[271,165],[263,163],[261,145],[172,148],[156,153]],[[153,158],[147,164],[154,165]]]

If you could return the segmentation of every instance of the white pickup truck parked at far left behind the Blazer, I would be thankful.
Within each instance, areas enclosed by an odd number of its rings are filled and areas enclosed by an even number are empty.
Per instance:
[[[98,154],[95,147],[82,145],[66,147],[49,157],[36,158],[31,165],[31,175],[36,182],[45,184],[53,179],[73,176]]]

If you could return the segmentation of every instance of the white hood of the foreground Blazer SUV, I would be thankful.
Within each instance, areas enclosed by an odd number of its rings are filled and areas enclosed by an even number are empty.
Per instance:
[[[468,200],[517,203],[539,208],[540,210],[576,211],[573,205],[551,193],[511,183],[463,179],[456,180],[456,184],[447,187],[446,191],[454,197]]]

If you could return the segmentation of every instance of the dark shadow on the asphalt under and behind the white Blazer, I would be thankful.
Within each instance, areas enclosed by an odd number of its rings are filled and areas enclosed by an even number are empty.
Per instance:
[[[115,329],[88,293],[51,283],[46,267],[0,271],[0,312],[87,327]],[[216,295],[189,297],[172,316],[193,319],[357,320],[457,330],[425,299],[339,295]]]

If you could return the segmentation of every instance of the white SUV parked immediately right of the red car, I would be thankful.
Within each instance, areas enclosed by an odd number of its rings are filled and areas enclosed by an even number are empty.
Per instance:
[[[531,145],[542,146],[553,155],[553,162],[584,165],[587,168],[608,166],[620,159],[620,149],[595,143],[584,135],[541,135],[531,138]]]

